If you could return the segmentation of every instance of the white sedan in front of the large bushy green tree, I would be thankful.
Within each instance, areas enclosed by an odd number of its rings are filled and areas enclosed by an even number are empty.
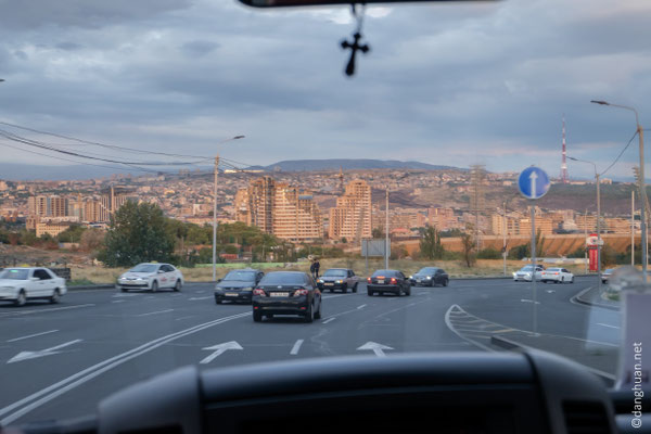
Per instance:
[[[170,264],[144,263],[138,264],[129,271],[117,278],[115,288],[122,292],[129,290],[151,290],[156,292],[164,288],[181,291],[183,275]]]

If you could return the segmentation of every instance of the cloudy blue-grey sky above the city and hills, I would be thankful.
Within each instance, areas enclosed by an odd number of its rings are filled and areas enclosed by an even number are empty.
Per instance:
[[[0,120],[116,145],[213,155],[245,135],[221,154],[537,164],[557,176],[563,114],[569,154],[600,170],[635,132],[633,113],[591,99],[634,105],[651,128],[648,0],[369,8],[372,51],[353,79],[339,47],[355,27],[345,7],[0,0]],[[2,143],[20,145],[0,139],[4,163],[63,164]],[[636,139],[607,176],[630,176],[637,150]],[[591,173],[570,164],[571,176]]]

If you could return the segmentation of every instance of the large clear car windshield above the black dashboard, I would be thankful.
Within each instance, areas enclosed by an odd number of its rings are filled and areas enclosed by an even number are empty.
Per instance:
[[[651,1],[244,1],[279,3],[0,0],[0,425],[188,365],[535,348],[624,384]]]

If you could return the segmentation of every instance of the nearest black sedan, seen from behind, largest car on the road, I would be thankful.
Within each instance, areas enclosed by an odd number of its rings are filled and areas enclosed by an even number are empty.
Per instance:
[[[253,290],[253,320],[275,315],[297,315],[305,322],[321,318],[321,292],[314,279],[301,271],[272,271]]]

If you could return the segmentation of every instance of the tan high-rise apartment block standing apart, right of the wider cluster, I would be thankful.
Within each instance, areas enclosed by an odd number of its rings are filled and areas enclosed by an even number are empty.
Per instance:
[[[328,235],[331,239],[356,240],[372,237],[371,187],[363,180],[349,182],[344,194],[330,209]]]

